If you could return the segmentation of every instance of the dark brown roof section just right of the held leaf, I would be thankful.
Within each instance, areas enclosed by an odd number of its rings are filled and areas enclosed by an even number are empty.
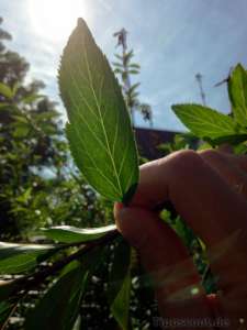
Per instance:
[[[161,143],[172,142],[179,132],[161,131],[154,129],[135,128],[135,138],[139,155],[148,160],[157,160],[164,156],[164,152],[157,146]]]

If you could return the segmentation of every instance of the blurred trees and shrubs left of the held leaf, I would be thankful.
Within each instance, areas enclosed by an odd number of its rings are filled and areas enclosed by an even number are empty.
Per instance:
[[[2,22],[2,19],[1,21]],[[46,226],[112,221],[108,202],[72,164],[56,103],[42,81],[25,84],[29,64],[0,30],[0,238],[29,240]]]

